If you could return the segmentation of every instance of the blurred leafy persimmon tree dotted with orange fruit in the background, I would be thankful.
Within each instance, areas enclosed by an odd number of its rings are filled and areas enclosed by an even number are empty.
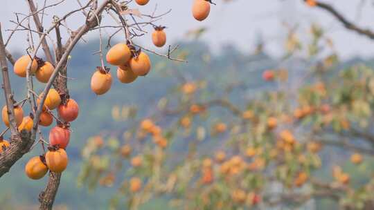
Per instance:
[[[305,3],[372,38],[329,4]],[[374,71],[363,64],[341,69],[323,28],[309,29],[307,43],[289,31],[285,57],[262,73],[269,87],[251,99],[238,100],[251,89],[235,91],[245,81],[222,87],[182,75],[178,91],[162,97],[153,115],[114,107],[114,118],[128,124],[87,141],[79,183],[116,187],[112,209],[139,209],[155,198],[174,209],[269,209],[310,200],[373,209]],[[306,70],[288,69],[292,59],[305,61]],[[355,176],[359,169],[364,178]]]

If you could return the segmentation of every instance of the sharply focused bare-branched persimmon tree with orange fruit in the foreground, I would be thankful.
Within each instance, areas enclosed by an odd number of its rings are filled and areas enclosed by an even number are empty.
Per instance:
[[[97,32],[100,37],[99,50],[94,53],[99,55],[98,68],[91,77],[91,90],[97,95],[107,93],[112,85],[110,68],[105,66],[105,61],[118,66],[117,77],[123,83],[134,82],[136,77],[150,72],[152,64],[148,53],[171,61],[184,61],[172,57],[178,46],[168,46],[168,52],[164,55],[134,43],[134,37],[142,37],[145,33],[152,32],[152,41],[157,47],[166,44],[166,33],[163,31],[165,27],[156,26],[155,23],[168,15],[170,10],[158,15],[156,7],[152,14],[144,14],[142,7],[148,6],[148,1],[89,0],[82,3],[77,0],[77,8],[66,11],[65,15],[47,17],[47,12],[60,10],[65,0],[55,3],[41,1],[39,5],[33,0],[27,0],[25,7],[29,12],[15,13],[15,20],[10,20],[15,23],[15,28],[8,30],[8,37],[3,36],[4,30],[0,24],[2,87],[6,99],[2,117],[8,127],[0,135],[0,177],[8,173],[24,154],[40,145],[41,155],[32,158],[25,167],[26,175],[31,179],[42,178],[50,171],[48,183],[39,194],[39,209],[52,209],[62,172],[69,162],[65,149],[70,139],[69,128],[73,126],[71,122],[78,117],[79,106],[70,97],[67,64],[78,41],[89,32]],[[204,13],[206,18],[210,3],[206,4],[207,1],[204,0],[198,0],[196,3],[204,3],[205,9],[193,11],[193,14]],[[69,28],[67,21],[72,17],[82,20],[82,26]],[[104,28],[113,30],[109,37],[103,37]],[[13,36],[16,33],[22,33],[28,42],[24,55],[19,58],[13,57],[7,49],[8,44],[17,41]],[[112,46],[111,39],[116,35],[121,35],[122,41]],[[103,55],[103,39],[107,39],[107,47],[111,47],[106,57]],[[39,57],[42,54],[44,56]],[[13,93],[9,77],[12,70],[8,63],[12,65],[15,75],[25,78],[27,91],[22,99],[16,100]],[[40,94],[34,89],[36,80],[45,84]],[[30,114],[24,117],[26,108],[30,110]],[[57,109],[57,113],[53,112],[54,109]],[[53,121],[57,126],[51,129],[47,141],[40,126],[51,126]],[[3,136],[8,132],[9,140],[5,140]]]

